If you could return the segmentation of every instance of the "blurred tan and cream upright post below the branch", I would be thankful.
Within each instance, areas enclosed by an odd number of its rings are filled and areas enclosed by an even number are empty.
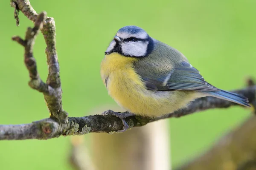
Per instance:
[[[125,133],[93,133],[91,137],[92,160],[98,170],[171,169],[168,120]]]

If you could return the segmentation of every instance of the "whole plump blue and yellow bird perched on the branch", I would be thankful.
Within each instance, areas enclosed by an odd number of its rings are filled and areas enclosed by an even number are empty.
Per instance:
[[[117,31],[100,73],[109,95],[136,115],[162,116],[204,96],[250,107],[247,98],[209,84],[182,53],[137,26]]]

